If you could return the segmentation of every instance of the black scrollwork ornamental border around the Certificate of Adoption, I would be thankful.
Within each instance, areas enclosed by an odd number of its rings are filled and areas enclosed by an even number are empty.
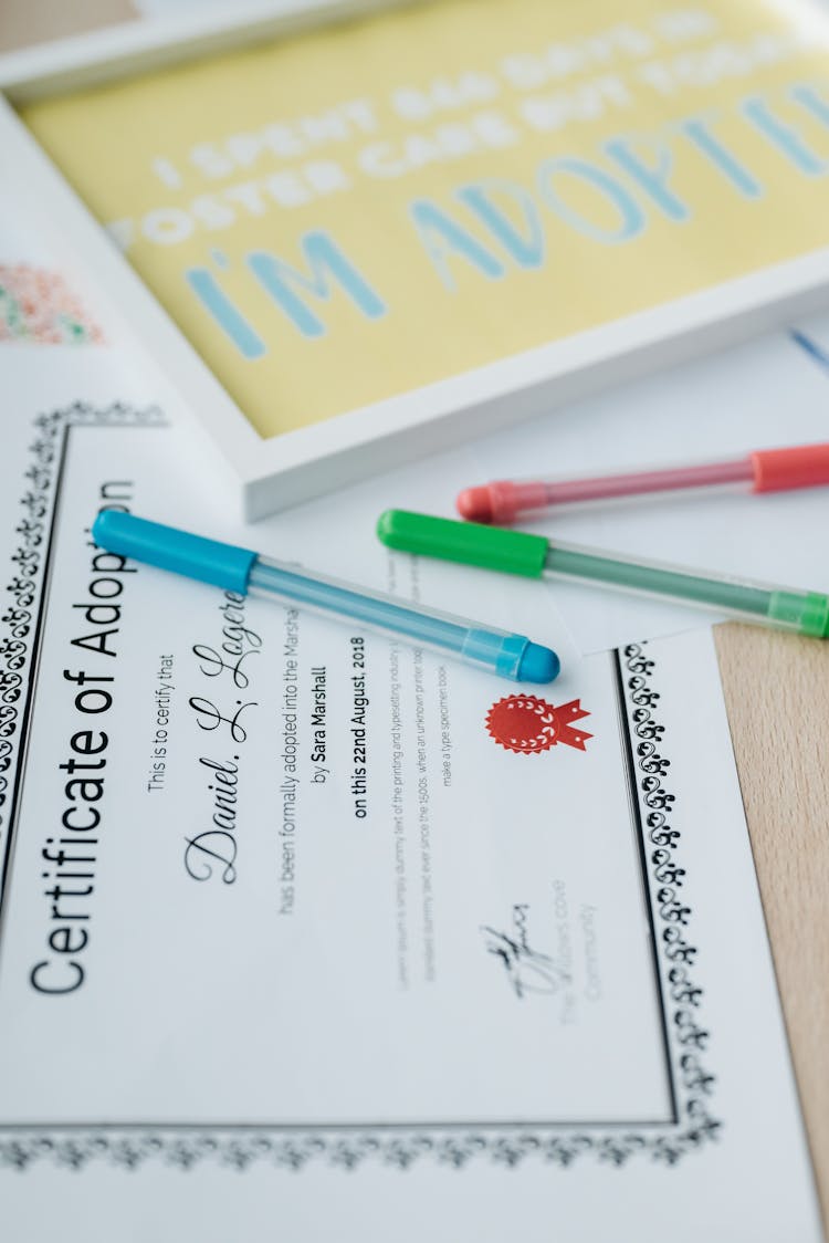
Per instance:
[[[135,411],[113,405],[94,410],[78,404],[36,420],[31,446],[32,465],[26,472],[29,490],[21,498],[24,516],[16,528],[20,544],[12,557],[16,572],[9,584],[12,604],[2,615],[6,634],[0,641],[0,817],[7,799],[7,778],[15,751],[21,747],[19,706],[31,670],[32,631],[41,598],[48,531],[60,484],[65,436],[77,424],[159,425],[160,411]],[[51,1124],[41,1126],[0,1124],[0,1166],[26,1170],[40,1160],[81,1170],[106,1160],[122,1168],[137,1168],[162,1160],[179,1170],[191,1170],[205,1160],[245,1170],[266,1161],[302,1170],[311,1161],[352,1170],[367,1160],[408,1170],[430,1158],[454,1168],[472,1158],[488,1158],[515,1167],[534,1157],[559,1168],[592,1155],[600,1163],[624,1166],[641,1156],[675,1166],[687,1154],[717,1137],[721,1122],[711,1114],[715,1076],[700,1054],[708,1032],[700,1023],[702,989],[691,977],[696,947],[687,940],[691,909],[682,901],[685,869],[679,863],[681,834],[671,824],[675,796],[666,776],[670,759],[657,751],[665,726],[656,720],[660,695],[654,689],[656,661],[645,645],[629,644],[613,655],[620,707],[621,743],[636,820],[646,881],[649,915],[654,931],[655,967],[660,989],[669,1071],[672,1079],[675,1117],[664,1124],[595,1124],[527,1126],[230,1126],[188,1124],[102,1124],[99,1126]],[[2,820],[0,819],[0,830]],[[0,839],[1,840],[1,839]]]

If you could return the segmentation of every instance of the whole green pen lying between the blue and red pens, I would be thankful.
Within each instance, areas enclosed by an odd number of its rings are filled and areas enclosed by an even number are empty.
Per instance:
[[[390,548],[424,557],[527,578],[569,578],[615,587],[718,609],[742,622],[793,630],[814,639],[829,636],[829,597],[820,592],[712,577],[680,566],[559,543],[523,531],[455,522],[406,510],[387,510],[377,533]]]

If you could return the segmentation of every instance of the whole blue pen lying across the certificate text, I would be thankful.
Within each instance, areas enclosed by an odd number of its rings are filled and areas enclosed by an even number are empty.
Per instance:
[[[431,648],[444,655],[451,653],[513,682],[552,682],[561,669],[554,651],[521,634],[400,604],[394,597],[322,574],[308,574],[247,548],[205,539],[132,513],[104,510],[94,521],[92,537],[107,552],[198,578],[239,595],[250,593],[326,615],[350,618],[372,630],[410,639],[416,648]]]

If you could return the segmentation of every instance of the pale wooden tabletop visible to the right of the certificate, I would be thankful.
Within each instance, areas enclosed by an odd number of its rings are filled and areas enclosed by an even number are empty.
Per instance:
[[[829,1237],[829,644],[733,623],[715,636]]]

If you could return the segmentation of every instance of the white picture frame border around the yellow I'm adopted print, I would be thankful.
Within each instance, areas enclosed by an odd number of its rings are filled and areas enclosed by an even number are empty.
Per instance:
[[[41,213],[70,277],[89,275],[183,398],[255,520],[556,405],[829,307],[829,245],[425,388],[261,438],[44,153],[16,107],[405,0],[271,0],[131,22],[0,56],[0,168]],[[42,208],[48,205],[48,210]],[[829,241],[829,225],[828,225]]]

